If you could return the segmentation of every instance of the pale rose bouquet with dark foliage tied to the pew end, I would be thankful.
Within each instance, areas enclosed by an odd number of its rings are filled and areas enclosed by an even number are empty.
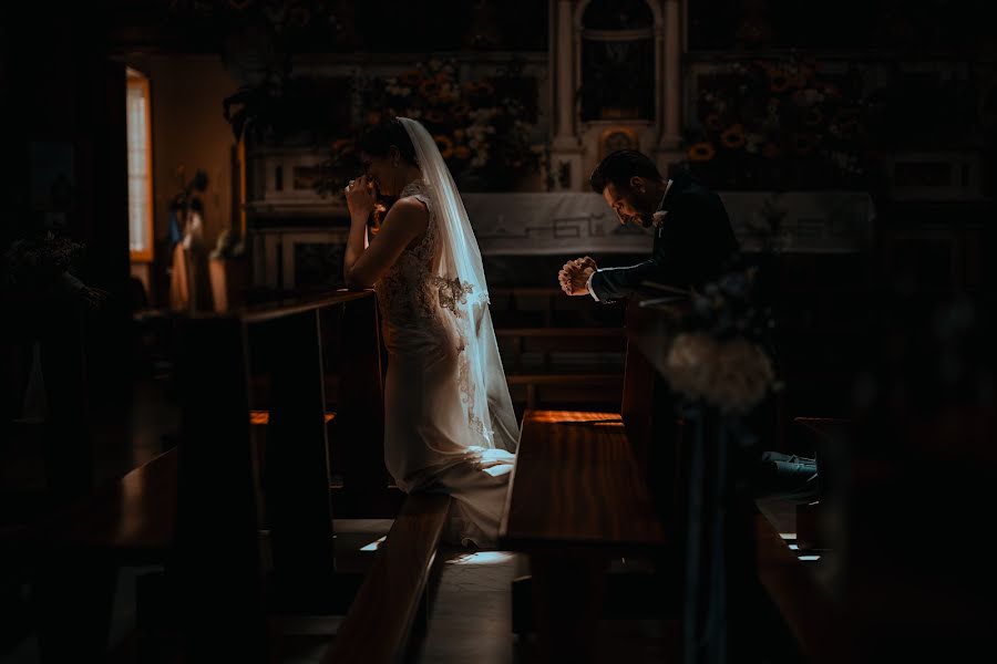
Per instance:
[[[691,293],[665,366],[671,388],[690,403],[744,415],[780,388],[765,350],[771,313],[754,301],[756,278],[753,269],[736,270]]]

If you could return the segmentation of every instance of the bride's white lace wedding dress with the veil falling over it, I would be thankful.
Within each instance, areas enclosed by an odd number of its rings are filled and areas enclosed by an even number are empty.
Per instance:
[[[439,152],[430,156],[439,158]],[[419,159],[425,176],[429,158],[419,154]],[[476,243],[469,249],[453,239],[454,227],[445,226],[453,217],[439,208],[452,205],[453,214],[456,206],[436,186],[419,179],[401,191],[425,206],[429,224],[374,284],[389,354],[384,461],[402,490],[453,497],[445,541],[494,548],[517,426]],[[470,225],[464,230],[470,232]],[[466,232],[458,237],[474,242]],[[454,267],[467,258],[454,260],[454,251],[470,253],[469,264],[476,258],[476,269]]]

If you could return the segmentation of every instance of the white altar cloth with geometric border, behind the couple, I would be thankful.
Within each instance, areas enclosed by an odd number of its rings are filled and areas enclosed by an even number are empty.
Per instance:
[[[720,191],[741,248],[760,249],[778,219],[772,247],[783,252],[842,253],[870,248],[874,207],[864,191]],[[623,226],[594,193],[464,194],[483,255],[543,256],[650,252],[652,230]]]

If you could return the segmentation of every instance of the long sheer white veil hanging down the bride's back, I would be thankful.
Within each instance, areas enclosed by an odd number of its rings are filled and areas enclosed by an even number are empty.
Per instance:
[[[436,215],[441,260],[434,276],[444,322],[460,347],[461,402],[476,445],[515,452],[518,425],[489,311],[481,250],[464,203],[436,142],[422,124],[399,118],[415,147],[415,158]]]

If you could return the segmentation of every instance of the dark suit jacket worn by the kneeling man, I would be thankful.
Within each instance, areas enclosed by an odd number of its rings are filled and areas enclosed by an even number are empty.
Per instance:
[[[740,258],[738,241],[720,197],[690,176],[678,174],[661,200],[666,211],[655,228],[650,260],[628,268],[600,269],[592,290],[600,301],[626,298],[654,281],[688,289],[712,281]]]

